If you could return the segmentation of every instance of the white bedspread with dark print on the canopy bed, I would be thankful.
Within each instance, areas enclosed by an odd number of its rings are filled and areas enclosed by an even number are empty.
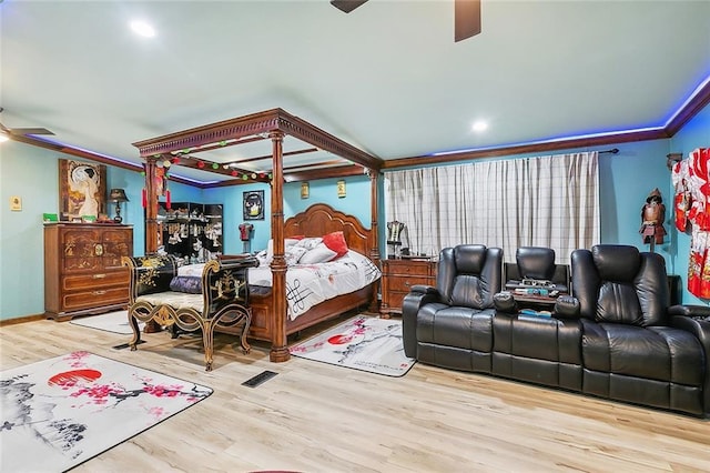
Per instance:
[[[323,301],[365,288],[381,275],[368,258],[353,250],[327,263],[291,265],[286,271],[287,315],[294,320]],[[271,286],[271,268],[250,268],[248,283]]]

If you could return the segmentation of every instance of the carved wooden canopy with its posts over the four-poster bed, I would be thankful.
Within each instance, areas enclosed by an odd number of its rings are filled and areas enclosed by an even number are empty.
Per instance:
[[[287,149],[284,149],[285,141]],[[254,148],[255,144],[261,145],[261,151]],[[271,144],[270,152],[264,152],[265,144]],[[271,268],[275,331],[272,335],[272,361],[285,361],[290,356],[286,346],[284,296],[287,269],[284,258],[284,182],[368,174],[372,209],[372,244],[368,255],[374,260],[379,259],[377,179],[383,161],[282,109],[196,127],[139,141],[133,145],[145,160],[146,253],[158,251],[158,197],[161,189],[156,184],[156,178],[160,182],[165,167],[179,165],[211,172],[216,183],[210,187],[271,183],[271,234],[274,242]],[[234,149],[247,151],[227,151]],[[311,157],[310,161],[304,162],[304,155]],[[285,165],[285,161],[288,161],[288,165]]]

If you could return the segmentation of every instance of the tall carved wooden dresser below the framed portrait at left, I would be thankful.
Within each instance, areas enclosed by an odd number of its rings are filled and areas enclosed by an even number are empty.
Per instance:
[[[133,227],[44,224],[44,314],[57,321],[124,309],[133,255]]]

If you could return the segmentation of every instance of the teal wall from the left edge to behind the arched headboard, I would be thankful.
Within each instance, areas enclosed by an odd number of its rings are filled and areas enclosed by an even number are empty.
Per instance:
[[[44,312],[44,256],[42,213],[59,212],[59,159],[75,157],[16,141],[0,145],[0,320],[31,316]],[[179,171],[178,171],[179,173]],[[336,195],[337,179],[313,181],[308,199],[301,199],[301,183],[284,188],[284,217],[288,218],[316,202],[326,202],[336,209],[356,215],[369,228],[369,179],[344,178],[347,195]],[[133,254],[145,253],[142,190],[144,177],[135,171],[109,165],[106,189],[122,188],[129,202],[121,204],[123,223],[133,225]],[[266,248],[271,238],[271,192],[268,184],[232,185],[202,190],[192,185],[170,182],[173,202],[222,203],[224,211],[224,253],[241,253],[239,224],[242,214],[242,193],[264,190],[265,220],[250,221],[255,231],[252,251]],[[22,211],[10,211],[10,197],[22,199]],[[161,199],[164,201],[164,199]],[[114,215],[114,204],[106,209]]]

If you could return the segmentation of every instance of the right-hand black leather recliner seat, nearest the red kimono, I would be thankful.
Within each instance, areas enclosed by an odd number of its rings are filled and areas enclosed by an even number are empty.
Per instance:
[[[558,301],[556,312],[581,323],[582,392],[708,415],[710,312],[669,308],[663,259],[597,245],[575,250],[571,269],[574,298]]]

